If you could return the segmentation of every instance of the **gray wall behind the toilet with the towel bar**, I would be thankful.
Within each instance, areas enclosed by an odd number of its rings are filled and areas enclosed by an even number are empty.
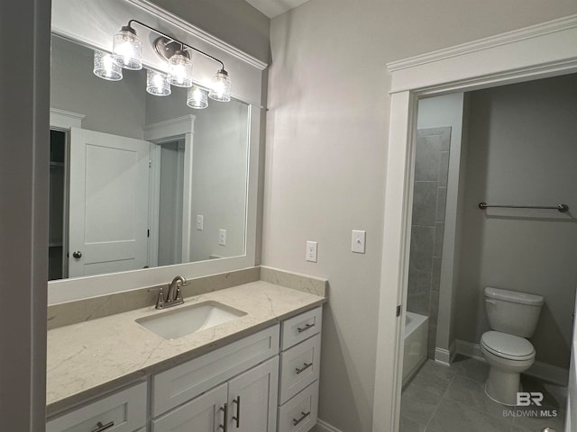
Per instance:
[[[536,293],[545,307],[532,339],[536,360],[567,368],[577,286],[577,75],[471,94],[463,257],[455,337],[489,329],[483,288]],[[481,201],[557,211],[480,211]]]

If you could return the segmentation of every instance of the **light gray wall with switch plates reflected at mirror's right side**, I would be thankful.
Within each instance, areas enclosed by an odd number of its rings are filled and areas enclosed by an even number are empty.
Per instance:
[[[193,144],[192,214],[204,216],[204,229],[193,228],[192,260],[237,257],[244,252],[248,107],[210,102],[197,114]],[[226,229],[226,246],[218,244]]]

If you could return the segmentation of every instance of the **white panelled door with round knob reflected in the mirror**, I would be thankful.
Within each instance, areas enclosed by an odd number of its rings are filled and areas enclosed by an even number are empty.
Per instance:
[[[69,276],[147,266],[150,143],[70,129]]]

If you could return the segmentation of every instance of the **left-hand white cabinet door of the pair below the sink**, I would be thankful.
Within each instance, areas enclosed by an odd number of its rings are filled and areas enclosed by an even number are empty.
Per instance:
[[[151,421],[151,432],[217,432],[224,428],[226,384]],[[229,416],[230,417],[230,416]]]

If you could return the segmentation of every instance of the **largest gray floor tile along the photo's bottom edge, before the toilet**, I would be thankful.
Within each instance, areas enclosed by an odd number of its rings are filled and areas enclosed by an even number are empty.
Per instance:
[[[509,419],[494,418],[467,408],[460,402],[444,400],[435,411],[426,432],[505,432],[510,428]]]

